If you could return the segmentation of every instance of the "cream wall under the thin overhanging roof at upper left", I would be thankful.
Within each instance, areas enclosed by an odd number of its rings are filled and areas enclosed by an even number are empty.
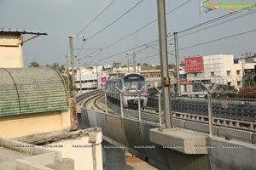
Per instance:
[[[0,33],[0,67],[23,67],[22,39],[20,33]]]

